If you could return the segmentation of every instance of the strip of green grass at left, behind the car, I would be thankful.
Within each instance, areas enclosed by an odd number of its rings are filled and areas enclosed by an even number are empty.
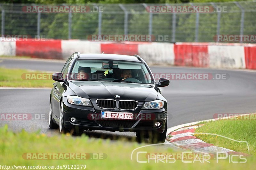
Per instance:
[[[0,67],[0,87],[52,87],[52,83],[54,82],[52,79],[49,79],[47,75],[47,79],[41,80],[36,79],[36,77],[30,77],[34,79],[26,79],[26,73],[46,73],[40,71],[31,71],[24,69],[7,69]],[[48,73],[49,75],[51,73]],[[35,75],[35,74],[34,74]],[[50,76],[51,78],[51,76]]]

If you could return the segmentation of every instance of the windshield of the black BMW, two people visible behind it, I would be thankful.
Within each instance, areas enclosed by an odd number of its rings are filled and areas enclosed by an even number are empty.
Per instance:
[[[144,63],[108,60],[77,60],[70,79],[153,84]]]

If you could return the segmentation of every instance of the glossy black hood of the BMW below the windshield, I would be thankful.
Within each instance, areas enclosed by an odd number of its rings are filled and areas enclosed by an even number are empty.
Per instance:
[[[77,96],[90,99],[116,99],[152,101],[156,100],[158,92],[154,85],[110,82],[110,81],[69,81],[68,86]]]

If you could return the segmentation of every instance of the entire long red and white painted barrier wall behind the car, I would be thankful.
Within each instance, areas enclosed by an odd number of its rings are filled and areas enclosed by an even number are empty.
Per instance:
[[[45,40],[0,42],[0,55],[64,59],[74,52],[140,55],[148,64],[256,69],[256,44]]]

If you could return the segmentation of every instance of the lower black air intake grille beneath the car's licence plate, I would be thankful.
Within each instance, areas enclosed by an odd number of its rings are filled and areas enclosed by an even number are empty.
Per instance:
[[[110,128],[131,128],[135,123],[130,120],[99,120],[98,122],[101,126]]]

